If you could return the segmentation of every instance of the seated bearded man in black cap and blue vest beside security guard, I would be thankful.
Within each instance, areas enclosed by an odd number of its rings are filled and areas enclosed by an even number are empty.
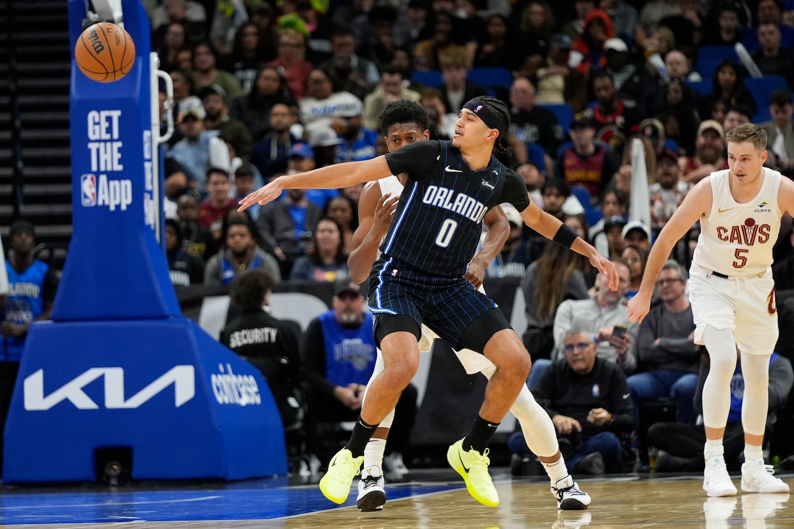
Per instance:
[[[358,419],[361,401],[377,358],[372,335],[372,313],[364,312],[360,286],[349,278],[337,281],[333,309],[314,319],[303,337],[304,376],[308,381],[312,423],[307,428],[309,450],[317,450],[318,422]],[[416,417],[417,391],[407,385],[395,408],[387,443],[393,456],[384,462],[402,462]],[[404,467],[404,466],[403,466]]]

